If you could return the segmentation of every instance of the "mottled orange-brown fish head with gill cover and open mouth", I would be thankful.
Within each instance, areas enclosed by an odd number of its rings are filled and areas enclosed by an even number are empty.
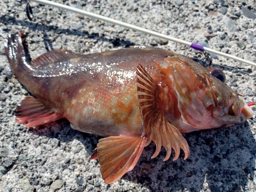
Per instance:
[[[165,61],[172,68],[170,76],[184,123],[211,129],[238,124],[253,116],[238,94],[199,63],[177,54]]]

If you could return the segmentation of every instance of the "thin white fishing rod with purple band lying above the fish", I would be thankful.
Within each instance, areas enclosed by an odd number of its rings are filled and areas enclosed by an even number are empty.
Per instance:
[[[256,67],[256,63],[254,63],[252,61],[248,61],[248,60],[236,57],[234,55],[229,55],[229,54],[226,54],[226,53],[214,50],[214,49],[210,49],[210,48],[195,44],[194,42],[188,42],[188,41],[185,41],[185,40],[182,40],[182,39],[179,39],[179,38],[164,35],[164,34],[161,34],[161,33],[155,32],[155,31],[151,31],[151,30],[148,30],[148,29],[145,29],[145,28],[142,28],[142,27],[127,24],[127,23],[121,22],[120,20],[112,19],[112,18],[109,18],[109,17],[105,17],[105,16],[102,16],[102,15],[98,15],[98,14],[95,14],[95,13],[91,13],[91,12],[84,11],[84,10],[81,10],[81,9],[77,9],[77,8],[74,8],[74,7],[70,7],[70,6],[67,6],[67,5],[62,5],[62,4],[59,4],[59,3],[50,2],[50,1],[47,1],[47,0],[30,0],[30,1],[36,2],[36,3],[39,3],[39,4],[53,6],[53,7],[59,8],[59,9],[67,10],[67,11],[72,11],[72,12],[79,13],[79,14],[82,14],[82,15],[86,15],[86,16],[89,16],[89,17],[92,17],[92,18],[103,20],[103,21],[108,22],[108,23],[112,23],[112,24],[115,24],[115,25],[122,26],[122,27],[127,28],[127,29],[132,29],[134,31],[140,31],[140,32],[143,32],[143,33],[146,33],[146,34],[150,34],[150,35],[162,38],[162,39],[166,39],[166,40],[176,42],[177,44],[182,44],[182,45],[189,46],[190,48],[193,48],[193,49],[196,49],[196,50],[199,50],[199,51],[207,51],[209,53],[214,53],[214,54],[217,54],[217,55],[220,55],[220,56],[223,56],[223,57],[226,57],[226,58],[230,58],[230,59],[233,59],[233,60],[236,60],[236,61],[239,61],[239,62],[243,62],[243,63],[246,63],[248,65]],[[32,9],[29,5],[29,2],[27,3],[26,12],[27,12],[28,18],[30,20],[32,20],[33,12],[32,12]]]

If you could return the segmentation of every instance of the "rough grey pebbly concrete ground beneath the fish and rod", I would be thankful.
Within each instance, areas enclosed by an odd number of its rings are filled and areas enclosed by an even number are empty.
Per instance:
[[[57,1],[123,22],[172,35],[256,62],[255,1]],[[254,2],[254,3],[253,3]],[[132,172],[106,185],[99,164],[89,161],[98,137],[74,131],[58,121],[28,130],[15,122],[14,110],[28,93],[12,76],[4,55],[8,33],[23,29],[32,58],[62,48],[77,53],[113,50],[133,44],[156,46],[187,56],[193,50],[173,42],[126,30],[99,20],[49,6],[0,2],[0,191],[256,191],[254,179],[256,118],[232,127],[185,134],[190,146],[187,160],[163,162],[155,158],[154,144],[146,147]],[[239,62],[216,57],[227,84],[246,102],[256,102],[256,71]],[[255,111],[255,109],[254,109]],[[181,154],[181,157],[184,154]]]

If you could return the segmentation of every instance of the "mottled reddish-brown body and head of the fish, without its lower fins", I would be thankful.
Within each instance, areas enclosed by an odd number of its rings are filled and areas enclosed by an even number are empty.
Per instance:
[[[17,39],[12,41],[21,49]],[[229,87],[197,62],[167,50],[136,46],[87,55],[54,50],[30,63],[23,51],[17,50],[15,55],[23,58],[9,59],[17,79],[42,104],[82,132],[141,135],[138,64],[161,88],[156,95],[158,107],[181,133],[244,120],[243,114],[230,116],[239,97]]]

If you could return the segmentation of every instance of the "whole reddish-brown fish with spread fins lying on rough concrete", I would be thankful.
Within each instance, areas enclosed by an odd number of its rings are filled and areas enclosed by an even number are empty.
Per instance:
[[[74,130],[102,136],[98,159],[105,183],[134,168],[144,147],[167,161],[189,146],[182,133],[241,123],[253,111],[239,95],[199,63],[144,46],[80,55],[56,49],[30,60],[23,31],[8,34],[5,54],[14,76],[31,96],[15,111],[34,127],[66,118]]]

